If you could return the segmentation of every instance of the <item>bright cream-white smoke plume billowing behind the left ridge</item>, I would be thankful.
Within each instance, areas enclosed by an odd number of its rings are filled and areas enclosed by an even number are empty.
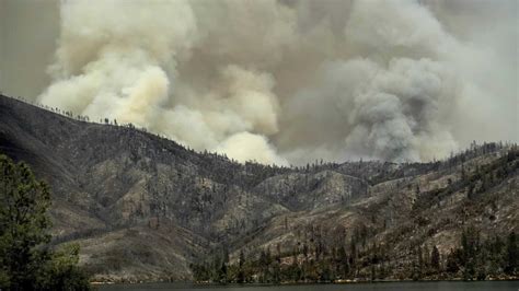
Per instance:
[[[177,84],[177,62],[203,33],[188,2],[66,1],[61,18],[50,68],[56,82],[44,103],[148,127],[240,161],[286,163],[263,136],[278,130],[269,74],[229,65],[208,92]],[[176,101],[174,90],[191,100]]]

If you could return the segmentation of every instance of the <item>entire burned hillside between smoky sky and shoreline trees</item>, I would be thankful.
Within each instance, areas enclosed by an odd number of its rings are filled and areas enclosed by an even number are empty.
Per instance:
[[[417,248],[436,246],[447,264],[469,226],[483,238],[519,231],[516,146],[474,144],[434,163],[289,168],[56,112],[0,96],[0,152],[50,184],[54,243],[78,242],[99,280],[192,279],[189,265],[220,251],[231,263],[265,251],[281,265],[319,263],[354,242],[354,277],[377,266],[403,279]]]

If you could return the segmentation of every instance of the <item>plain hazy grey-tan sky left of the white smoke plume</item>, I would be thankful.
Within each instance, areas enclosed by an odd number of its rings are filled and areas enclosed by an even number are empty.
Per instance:
[[[50,83],[46,69],[58,36],[58,1],[0,0],[0,89],[39,95]]]

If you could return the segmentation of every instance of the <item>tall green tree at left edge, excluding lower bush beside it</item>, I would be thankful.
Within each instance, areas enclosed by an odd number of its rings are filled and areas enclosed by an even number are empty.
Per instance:
[[[3,288],[26,290],[34,286],[50,236],[46,211],[50,194],[34,178],[27,165],[0,155],[0,264],[7,277]]]

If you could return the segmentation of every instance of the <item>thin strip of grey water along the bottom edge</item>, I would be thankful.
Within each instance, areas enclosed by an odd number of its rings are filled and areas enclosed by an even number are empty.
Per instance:
[[[198,290],[198,291],[519,291],[519,281],[486,282],[383,282],[353,284],[293,284],[293,286],[194,286],[188,283],[105,284],[100,291]]]

